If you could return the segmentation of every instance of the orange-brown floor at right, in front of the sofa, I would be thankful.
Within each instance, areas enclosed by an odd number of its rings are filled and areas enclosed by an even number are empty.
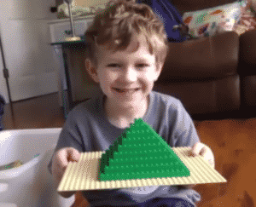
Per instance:
[[[256,118],[195,121],[201,142],[211,147],[215,169],[226,183],[195,186],[198,207],[254,207],[256,204]],[[88,206],[76,193],[73,207]]]

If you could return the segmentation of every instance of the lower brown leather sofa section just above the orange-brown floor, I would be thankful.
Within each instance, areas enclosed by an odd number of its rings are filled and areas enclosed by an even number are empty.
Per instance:
[[[193,116],[235,112],[241,104],[239,76],[215,81],[154,83],[154,91],[172,95],[183,102]],[[219,116],[218,116],[219,117]],[[208,116],[209,118],[209,116]]]

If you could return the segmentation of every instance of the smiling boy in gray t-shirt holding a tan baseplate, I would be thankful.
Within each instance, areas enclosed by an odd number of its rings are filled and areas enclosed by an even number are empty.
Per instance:
[[[90,43],[85,66],[102,93],[69,112],[49,171],[56,185],[69,161],[79,152],[105,151],[130,127],[143,118],[171,147],[192,147],[204,158],[214,158],[198,138],[195,126],[182,103],[170,95],[152,91],[168,51],[166,32],[154,12],[134,1],[113,1],[96,15],[85,33]],[[74,192],[61,193],[70,197]],[[201,199],[189,187],[131,187],[84,191],[90,206],[195,206]]]

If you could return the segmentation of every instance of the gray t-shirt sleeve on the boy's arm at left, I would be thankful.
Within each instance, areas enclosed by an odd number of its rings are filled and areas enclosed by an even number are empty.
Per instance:
[[[67,120],[61,129],[61,134],[59,136],[59,140],[57,141],[55,151],[52,155],[52,158],[56,151],[64,147],[73,147],[77,149],[79,152],[84,152],[83,148],[82,136],[79,132],[79,123],[77,122],[77,116],[75,111],[69,112],[67,116]],[[50,174],[52,174],[52,158],[48,164],[48,170]]]

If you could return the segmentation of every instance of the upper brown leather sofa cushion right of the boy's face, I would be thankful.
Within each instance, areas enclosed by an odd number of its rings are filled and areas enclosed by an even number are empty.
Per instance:
[[[169,43],[169,52],[158,80],[166,83],[210,81],[236,75],[238,53],[239,36],[236,32]]]

